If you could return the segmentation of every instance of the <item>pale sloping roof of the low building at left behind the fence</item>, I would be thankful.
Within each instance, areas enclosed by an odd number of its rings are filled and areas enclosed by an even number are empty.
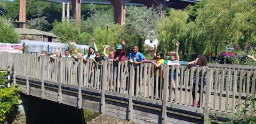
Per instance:
[[[19,35],[44,35],[44,36],[49,36],[49,37],[54,37],[54,38],[60,38],[56,35],[53,35],[50,32],[45,32],[42,30],[36,30],[36,29],[23,29],[23,28],[15,28],[15,30],[18,32]]]

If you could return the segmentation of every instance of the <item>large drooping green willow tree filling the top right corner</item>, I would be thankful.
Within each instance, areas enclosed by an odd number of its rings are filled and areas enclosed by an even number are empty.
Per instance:
[[[207,1],[191,22],[195,52],[217,55],[226,45],[255,42],[255,5],[255,0]]]

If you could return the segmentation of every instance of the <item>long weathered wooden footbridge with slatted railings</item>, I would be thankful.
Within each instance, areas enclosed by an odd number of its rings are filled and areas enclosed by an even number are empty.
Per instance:
[[[164,65],[156,70],[151,63],[134,68],[127,62],[102,61],[92,73],[92,61],[84,63],[82,59],[60,57],[53,61],[48,56],[11,53],[0,53],[0,58],[0,68],[13,67],[13,83],[21,93],[135,123],[206,123],[213,116],[223,121],[242,109],[237,104],[251,102],[245,101],[246,96],[255,98],[256,67],[244,65]],[[195,95],[195,104],[199,97],[201,100],[197,108],[191,106],[191,91],[199,76],[206,76],[206,86],[201,85],[203,95]],[[170,88],[173,80],[174,92]]]

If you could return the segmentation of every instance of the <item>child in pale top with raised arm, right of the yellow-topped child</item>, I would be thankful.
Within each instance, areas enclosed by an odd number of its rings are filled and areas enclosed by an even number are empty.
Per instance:
[[[175,43],[175,52],[171,52],[170,53],[170,60],[167,61],[167,65],[180,65],[180,57],[179,57],[179,42]],[[171,83],[171,79],[172,79],[172,71],[169,71],[169,82]],[[174,70],[173,72],[173,83],[172,83],[172,89],[173,91],[175,91],[175,79],[176,79],[176,71]],[[170,84],[169,84],[170,85]],[[175,93],[175,92],[174,92]],[[170,100],[168,100],[170,101]],[[174,102],[174,101],[172,101]]]

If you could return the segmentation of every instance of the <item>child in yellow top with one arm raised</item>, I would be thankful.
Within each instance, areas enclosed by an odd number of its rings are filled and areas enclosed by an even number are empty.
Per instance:
[[[164,64],[164,54],[161,51],[156,52],[156,47],[154,47],[153,56],[156,57],[156,61],[152,62],[152,64],[155,65],[154,76],[156,76],[157,70],[159,69],[159,67],[161,67],[162,64]],[[156,95],[156,100],[160,100],[159,95],[160,93],[162,93],[162,91],[160,91],[160,87],[162,86],[161,73],[161,71],[158,71],[158,77],[154,78],[154,94]],[[158,94],[156,94],[156,78],[158,78]]]

